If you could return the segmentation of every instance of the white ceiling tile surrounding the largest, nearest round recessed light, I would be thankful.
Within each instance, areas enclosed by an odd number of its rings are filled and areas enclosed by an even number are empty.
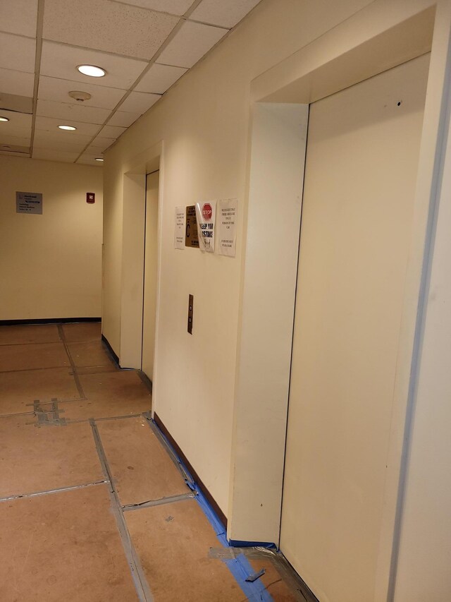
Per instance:
[[[103,78],[90,78],[77,70],[78,65],[97,65],[106,70]],[[56,42],[42,42],[41,75],[128,90],[147,67],[146,61],[106,54],[89,48],[75,48]]]

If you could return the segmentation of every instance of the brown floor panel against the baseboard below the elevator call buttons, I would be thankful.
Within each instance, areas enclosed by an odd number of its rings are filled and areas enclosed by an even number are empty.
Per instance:
[[[145,419],[101,421],[97,428],[122,505],[189,492]]]

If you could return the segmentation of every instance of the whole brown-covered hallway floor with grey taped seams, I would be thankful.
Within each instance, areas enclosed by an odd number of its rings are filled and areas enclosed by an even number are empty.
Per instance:
[[[99,323],[0,327],[1,601],[305,600],[280,555],[228,547],[150,407]]]

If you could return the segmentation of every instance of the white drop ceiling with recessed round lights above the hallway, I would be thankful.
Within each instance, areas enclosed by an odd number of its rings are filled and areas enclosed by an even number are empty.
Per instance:
[[[0,0],[0,155],[101,167],[104,150],[259,1]],[[84,76],[82,64],[106,75]]]

